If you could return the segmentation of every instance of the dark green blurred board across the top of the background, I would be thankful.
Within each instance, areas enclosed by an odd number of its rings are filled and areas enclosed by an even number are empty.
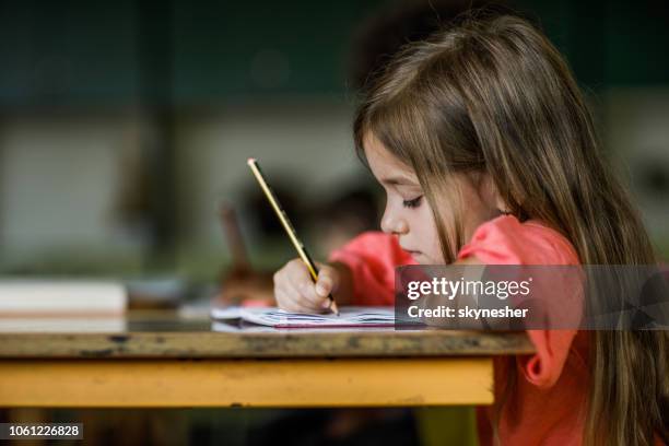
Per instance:
[[[0,1],[0,106],[344,94],[353,32],[392,3]],[[582,84],[669,83],[660,2],[514,5],[541,24]]]

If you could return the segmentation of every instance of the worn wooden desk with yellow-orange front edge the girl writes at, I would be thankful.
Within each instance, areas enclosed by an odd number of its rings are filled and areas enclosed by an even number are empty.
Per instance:
[[[131,313],[105,332],[8,321],[4,408],[490,404],[491,356],[533,351],[523,332],[215,332],[175,313]]]

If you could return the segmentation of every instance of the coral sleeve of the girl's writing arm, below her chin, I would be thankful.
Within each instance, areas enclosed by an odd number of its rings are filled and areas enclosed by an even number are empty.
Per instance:
[[[349,267],[353,278],[353,305],[392,305],[395,303],[395,268],[415,265],[402,250],[397,237],[382,232],[365,232],[340,249],[330,262]]]

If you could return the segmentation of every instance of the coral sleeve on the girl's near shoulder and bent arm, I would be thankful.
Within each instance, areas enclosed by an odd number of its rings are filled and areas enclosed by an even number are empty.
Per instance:
[[[572,244],[538,223],[520,223],[504,215],[474,232],[458,259],[476,257],[485,265],[579,265]],[[553,386],[564,368],[577,330],[527,330],[537,353],[518,357],[525,378],[540,387]]]

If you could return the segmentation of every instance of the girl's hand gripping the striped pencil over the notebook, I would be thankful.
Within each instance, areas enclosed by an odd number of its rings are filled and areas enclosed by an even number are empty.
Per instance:
[[[316,262],[318,282],[312,281],[306,265],[293,259],[274,273],[277,305],[286,312],[321,313],[330,306],[328,295],[337,292],[339,272],[329,265]]]

